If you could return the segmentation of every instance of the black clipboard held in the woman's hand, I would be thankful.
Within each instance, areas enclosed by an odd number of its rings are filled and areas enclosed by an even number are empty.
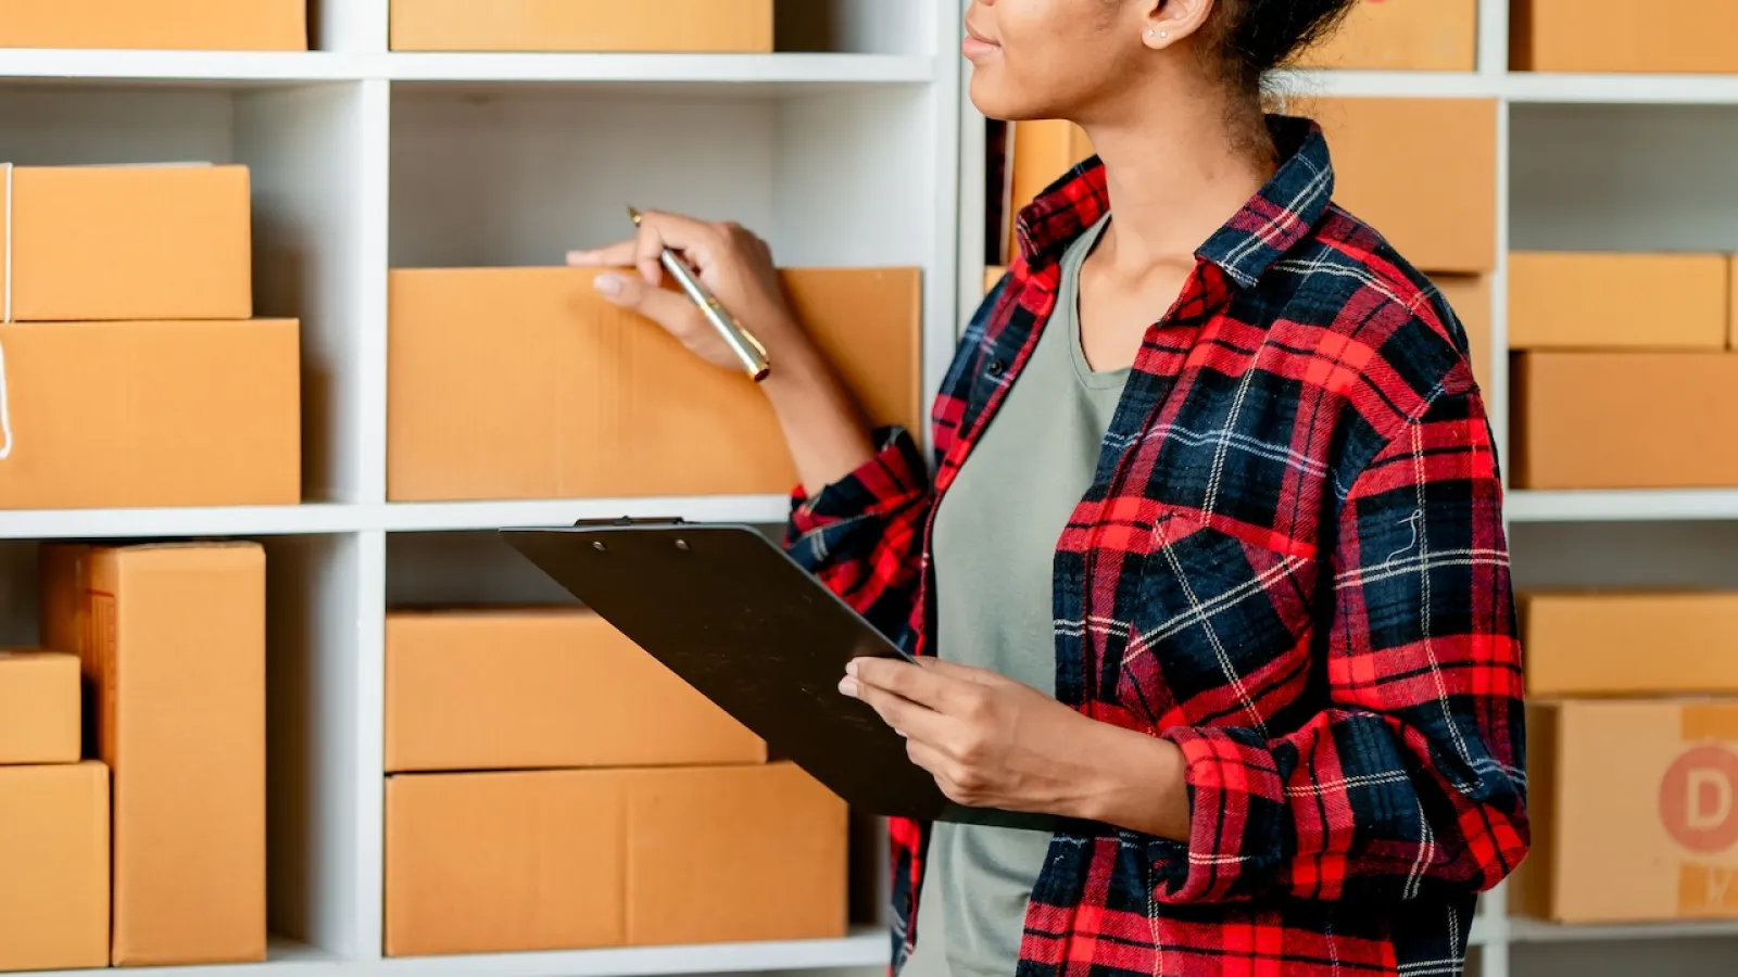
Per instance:
[[[905,741],[838,690],[852,659],[911,659],[753,527],[617,520],[502,537],[852,807],[918,821],[1055,824],[947,800],[905,756]]]

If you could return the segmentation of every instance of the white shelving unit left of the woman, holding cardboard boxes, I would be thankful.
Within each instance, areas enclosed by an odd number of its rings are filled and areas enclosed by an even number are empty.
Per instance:
[[[572,247],[626,236],[629,202],[735,219],[787,266],[921,268],[933,389],[959,304],[952,0],[784,3],[780,17],[805,21],[799,45],[817,50],[766,56],[395,54],[388,0],[320,7],[316,50],[306,54],[0,50],[0,160],[247,163],[257,315],[304,322],[304,504],[0,511],[0,640],[10,643],[35,638],[36,541],[266,542],[275,942],[262,965],[155,972],[626,977],[883,967],[881,930],[382,958],[388,603],[551,600],[495,541],[499,527],[620,515],[777,523],[786,513],[782,497],[388,502],[386,280],[395,266],[560,264]]]

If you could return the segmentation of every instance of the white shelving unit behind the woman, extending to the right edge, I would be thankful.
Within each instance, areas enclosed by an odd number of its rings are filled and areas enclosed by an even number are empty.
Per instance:
[[[958,0],[961,9],[968,0]],[[1498,103],[1498,266],[1493,348],[1509,346],[1507,254],[1562,250],[1738,252],[1738,75],[1509,71],[1509,0],[1479,0],[1476,71],[1284,71],[1279,94],[1456,97]],[[961,322],[984,282],[984,118],[961,85]],[[1507,445],[1509,362],[1486,395]],[[1528,586],[1738,588],[1738,487],[1528,492],[1505,508],[1516,582]],[[1623,885],[1613,878],[1611,885]],[[1510,918],[1498,887],[1472,928],[1470,974],[1608,977],[1651,968],[1729,974],[1738,925],[1559,927]]]

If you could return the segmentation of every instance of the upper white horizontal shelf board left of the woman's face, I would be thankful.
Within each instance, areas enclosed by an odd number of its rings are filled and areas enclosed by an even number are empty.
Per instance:
[[[0,49],[0,78],[56,83],[186,82],[266,87],[316,82],[761,85],[772,90],[926,85],[930,56],[902,54],[334,54],[276,50]]]

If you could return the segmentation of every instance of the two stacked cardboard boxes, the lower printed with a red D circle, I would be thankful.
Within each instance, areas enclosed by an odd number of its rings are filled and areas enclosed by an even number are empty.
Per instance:
[[[1533,852],[1561,923],[1738,918],[1738,595],[1521,598]]]

